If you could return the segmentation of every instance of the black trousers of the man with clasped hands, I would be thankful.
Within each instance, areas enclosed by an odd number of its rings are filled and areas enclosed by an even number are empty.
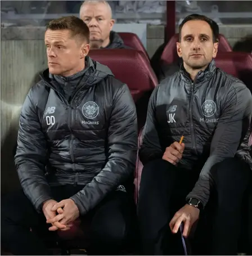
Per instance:
[[[56,201],[68,199],[82,186],[65,185],[52,187]],[[84,215],[91,226],[92,255],[119,254],[133,239],[136,226],[136,206],[133,195],[114,191],[105,197],[95,209]],[[46,244],[38,235],[41,231],[57,237],[57,231],[48,231],[44,214],[37,213],[22,191],[5,196],[1,201],[1,242],[14,255],[48,255]],[[32,228],[33,232],[30,232]]]

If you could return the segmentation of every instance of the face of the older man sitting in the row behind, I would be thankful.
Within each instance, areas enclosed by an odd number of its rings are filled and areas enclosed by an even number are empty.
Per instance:
[[[96,45],[92,48],[100,48],[104,42],[109,43],[115,21],[111,19],[111,12],[104,3],[87,3],[80,10],[80,19],[88,25],[91,46]]]

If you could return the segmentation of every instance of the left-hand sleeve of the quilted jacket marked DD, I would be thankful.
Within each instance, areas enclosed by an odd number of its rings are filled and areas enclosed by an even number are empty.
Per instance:
[[[40,212],[44,201],[51,199],[50,186],[44,176],[46,165],[46,138],[41,130],[35,109],[34,87],[30,89],[22,106],[15,164],[25,195]]]

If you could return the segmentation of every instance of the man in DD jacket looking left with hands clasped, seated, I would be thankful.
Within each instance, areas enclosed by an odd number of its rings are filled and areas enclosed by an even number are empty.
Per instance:
[[[127,85],[87,56],[88,43],[77,17],[47,25],[48,69],[20,116],[22,191],[2,199],[2,245],[12,254],[47,255],[38,230],[64,232],[79,217],[90,224],[90,254],[118,254],[132,236],[136,109]]]

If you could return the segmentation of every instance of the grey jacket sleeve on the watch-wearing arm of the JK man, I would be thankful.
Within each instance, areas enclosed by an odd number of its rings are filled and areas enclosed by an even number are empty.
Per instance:
[[[187,199],[194,197],[205,206],[213,185],[212,167],[226,158],[233,158],[250,128],[252,97],[248,88],[236,83],[227,94],[223,113],[214,132],[210,156],[201,170],[199,180]]]

